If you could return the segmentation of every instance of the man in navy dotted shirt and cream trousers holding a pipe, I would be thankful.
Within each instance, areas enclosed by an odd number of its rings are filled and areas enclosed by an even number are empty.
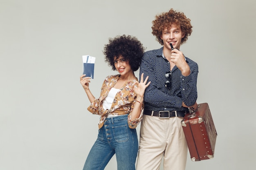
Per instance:
[[[152,33],[162,48],[144,53],[141,74],[150,85],[144,93],[137,170],[185,170],[187,144],[181,121],[197,107],[198,64],[185,57],[180,45],[192,32],[190,19],[173,9],[157,15]],[[172,46],[173,48],[172,48]]]

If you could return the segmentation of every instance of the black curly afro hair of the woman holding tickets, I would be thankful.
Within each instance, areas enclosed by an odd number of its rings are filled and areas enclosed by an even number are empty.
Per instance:
[[[116,70],[114,57],[124,57],[131,66],[132,71],[137,71],[141,63],[141,57],[144,53],[144,47],[136,37],[131,35],[117,35],[115,38],[109,38],[109,44],[105,44],[103,54],[105,61]]]

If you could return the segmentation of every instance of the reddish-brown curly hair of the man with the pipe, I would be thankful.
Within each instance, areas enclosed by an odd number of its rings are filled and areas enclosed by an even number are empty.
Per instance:
[[[164,45],[163,40],[160,38],[162,31],[165,28],[170,29],[172,24],[177,25],[177,27],[180,28],[182,33],[185,35],[184,38],[181,39],[181,44],[185,43],[186,40],[188,40],[188,36],[192,33],[192,26],[190,23],[191,20],[186,18],[184,13],[176,12],[173,9],[170,9],[169,12],[156,15],[155,18],[156,19],[152,21],[152,34],[156,36],[156,40],[161,45]]]

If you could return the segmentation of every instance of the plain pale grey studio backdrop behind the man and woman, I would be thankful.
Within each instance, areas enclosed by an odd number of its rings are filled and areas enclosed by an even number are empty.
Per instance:
[[[0,170],[82,170],[99,121],[80,84],[82,55],[96,57],[99,97],[117,74],[104,62],[108,38],[158,49],[151,22],[171,8],[191,19],[180,50],[199,65],[197,102],[209,104],[218,132],[214,158],[188,153],[186,170],[254,169],[255,0],[0,0]],[[116,167],[114,156],[106,170]]]

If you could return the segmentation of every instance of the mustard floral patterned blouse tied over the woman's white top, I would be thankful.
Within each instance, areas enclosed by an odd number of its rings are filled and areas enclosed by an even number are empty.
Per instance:
[[[101,87],[101,95],[99,99],[95,99],[94,102],[87,108],[92,114],[100,115],[99,129],[103,126],[105,119],[108,115],[128,115],[128,125],[130,128],[136,128],[142,119],[143,112],[140,113],[139,118],[131,120],[132,110],[136,102],[136,95],[132,90],[132,84],[138,79],[134,79],[131,82],[126,82],[117,92],[112,106],[108,110],[103,108],[103,99],[108,95],[110,89],[115,86],[119,75],[109,75],[104,80]],[[141,110],[144,108],[144,104],[141,106]]]

